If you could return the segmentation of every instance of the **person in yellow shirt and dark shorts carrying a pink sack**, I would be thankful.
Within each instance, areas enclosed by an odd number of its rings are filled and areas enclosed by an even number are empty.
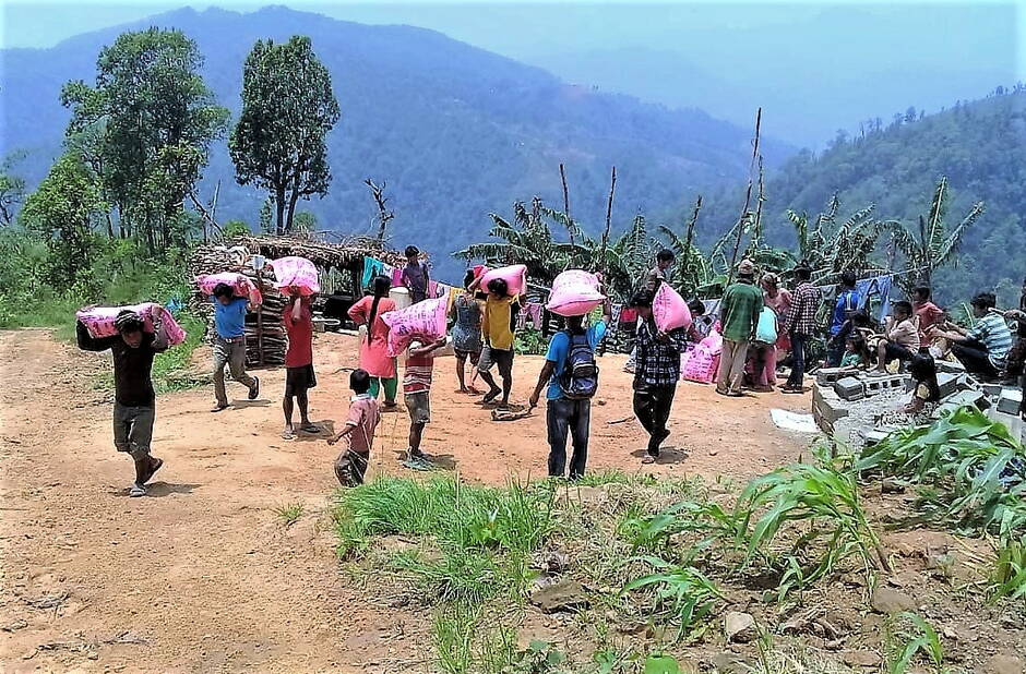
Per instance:
[[[481,317],[485,347],[478,362],[481,380],[489,386],[482,400],[486,404],[493,401],[499,394],[502,394],[501,407],[510,404],[510,392],[513,388],[513,333],[520,309],[520,298],[510,294],[509,286],[503,279],[496,278],[488,282],[488,300],[485,302],[485,315]],[[499,368],[502,388],[499,388],[491,375],[493,366]]]

